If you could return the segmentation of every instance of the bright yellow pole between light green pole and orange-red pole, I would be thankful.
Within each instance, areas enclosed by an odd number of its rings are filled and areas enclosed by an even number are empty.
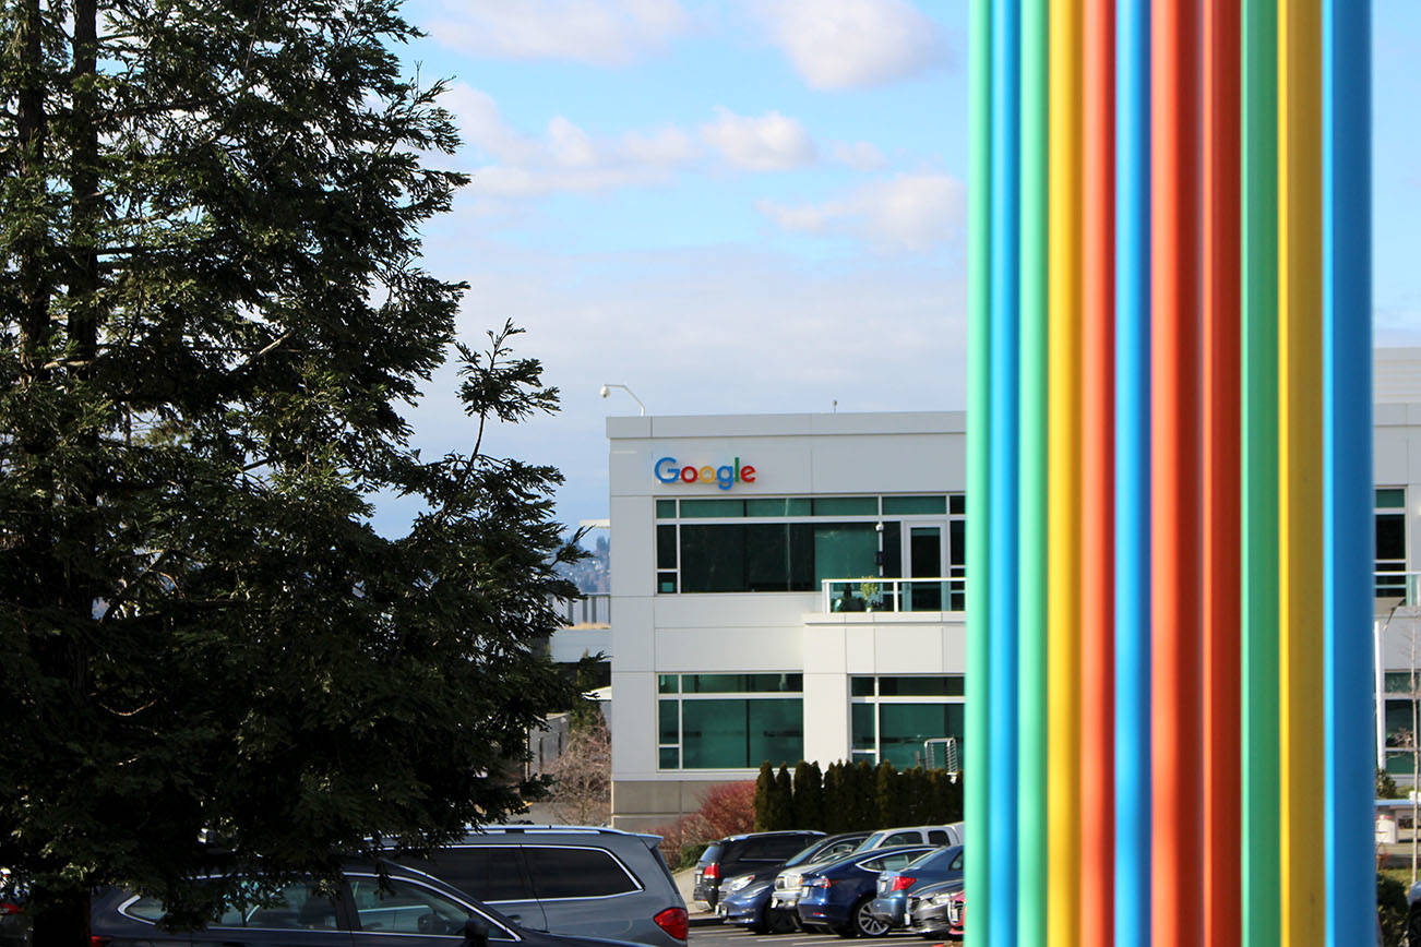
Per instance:
[[[1081,0],[1050,4],[1047,943],[1080,943]]]

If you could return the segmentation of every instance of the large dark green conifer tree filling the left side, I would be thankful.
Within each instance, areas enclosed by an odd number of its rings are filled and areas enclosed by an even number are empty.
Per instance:
[[[557,392],[512,325],[455,345],[419,266],[463,177],[396,0],[0,20],[0,865],[37,941],[105,883],[206,916],[199,833],[280,876],[516,811],[576,552],[557,471],[485,444]],[[450,346],[463,447],[426,459]]]

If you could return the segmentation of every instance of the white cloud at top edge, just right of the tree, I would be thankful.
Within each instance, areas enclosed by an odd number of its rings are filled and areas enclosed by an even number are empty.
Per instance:
[[[445,0],[426,28],[470,55],[625,65],[688,26],[676,0]]]

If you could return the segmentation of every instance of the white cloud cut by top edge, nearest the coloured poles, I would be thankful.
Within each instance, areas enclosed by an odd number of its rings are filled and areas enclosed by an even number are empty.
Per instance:
[[[750,9],[811,88],[882,85],[948,60],[942,30],[905,0],[756,0]]]

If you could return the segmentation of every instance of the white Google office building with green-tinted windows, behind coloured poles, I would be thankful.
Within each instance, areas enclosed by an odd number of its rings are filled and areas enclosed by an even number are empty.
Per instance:
[[[614,825],[665,826],[763,760],[941,765],[965,708],[962,413],[610,417],[607,434]],[[1376,406],[1376,483],[1391,745],[1421,630],[1421,403]]]

